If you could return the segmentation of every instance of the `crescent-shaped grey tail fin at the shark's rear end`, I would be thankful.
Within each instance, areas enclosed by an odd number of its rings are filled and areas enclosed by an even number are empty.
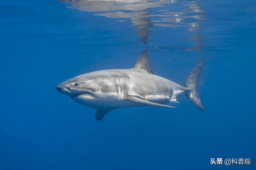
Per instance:
[[[201,104],[198,90],[197,90],[197,84],[198,84],[202,67],[204,65],[204,59],[205,58],[199,61],[196,67],[190,72],[184,84],[185,87],[191,89],[190,92],[186,94],[186,97],[188,98],[188,100],[190,100],[192,104],[194,104],[194,106],[196,106],[196,108],[198,108],[201,111],[206,111],[206,110]]]

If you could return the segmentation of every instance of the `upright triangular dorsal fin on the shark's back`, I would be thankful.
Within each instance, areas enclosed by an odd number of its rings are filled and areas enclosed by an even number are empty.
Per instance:
[[[140,70],[145,70],[146,72],[150,73],[150,74],[154,74],[154,72],[152,72],[149,62],[148,62],[148,49],[145,49],[139,56],[139,58],[137,59],[134,67],[135,69],[140,69]]]

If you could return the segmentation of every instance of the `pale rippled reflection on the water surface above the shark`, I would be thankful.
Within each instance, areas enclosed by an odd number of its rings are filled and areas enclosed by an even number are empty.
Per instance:
[[[200,0],[190,2],[180,0],[59,0],[59,2],[73,5],[67,8],[100,12],[94,15],[118,18],[117,21],[125,21],[119,20],[121,18],[130,18],[132,25],[136,27],[136,35],[145,45],[148,43],[149,29],[153,26],[160,26],[168,27],[170,31],[173,27],[187,27],[186,31],[194,33],[188,37],[188,41],[191,41],[193,45],[192,48],[172,47],[172,45],[170,48],[202,51],[204,46],[200,23],[204,21],[202,17],[205,13],[199,5]]]

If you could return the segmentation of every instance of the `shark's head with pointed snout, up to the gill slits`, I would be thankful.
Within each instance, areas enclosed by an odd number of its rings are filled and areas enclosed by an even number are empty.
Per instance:
[[[61,94],[79,104],[87,107],[98,108],[98,105],[110,93],[118,94],[116,79],[106,70],[90,72],[76,76],[56,86]],[[96,106],[97,105],[97,106]]]

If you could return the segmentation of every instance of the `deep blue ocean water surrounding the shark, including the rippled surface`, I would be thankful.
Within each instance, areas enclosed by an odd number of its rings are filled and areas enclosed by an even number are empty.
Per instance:
[[[0,170],[256,169],[255,0],[0,1]],[[198,84],[207,112],[76,104],[55,86],[132,68]],[[211,165],[250,158],[251,165]]]

